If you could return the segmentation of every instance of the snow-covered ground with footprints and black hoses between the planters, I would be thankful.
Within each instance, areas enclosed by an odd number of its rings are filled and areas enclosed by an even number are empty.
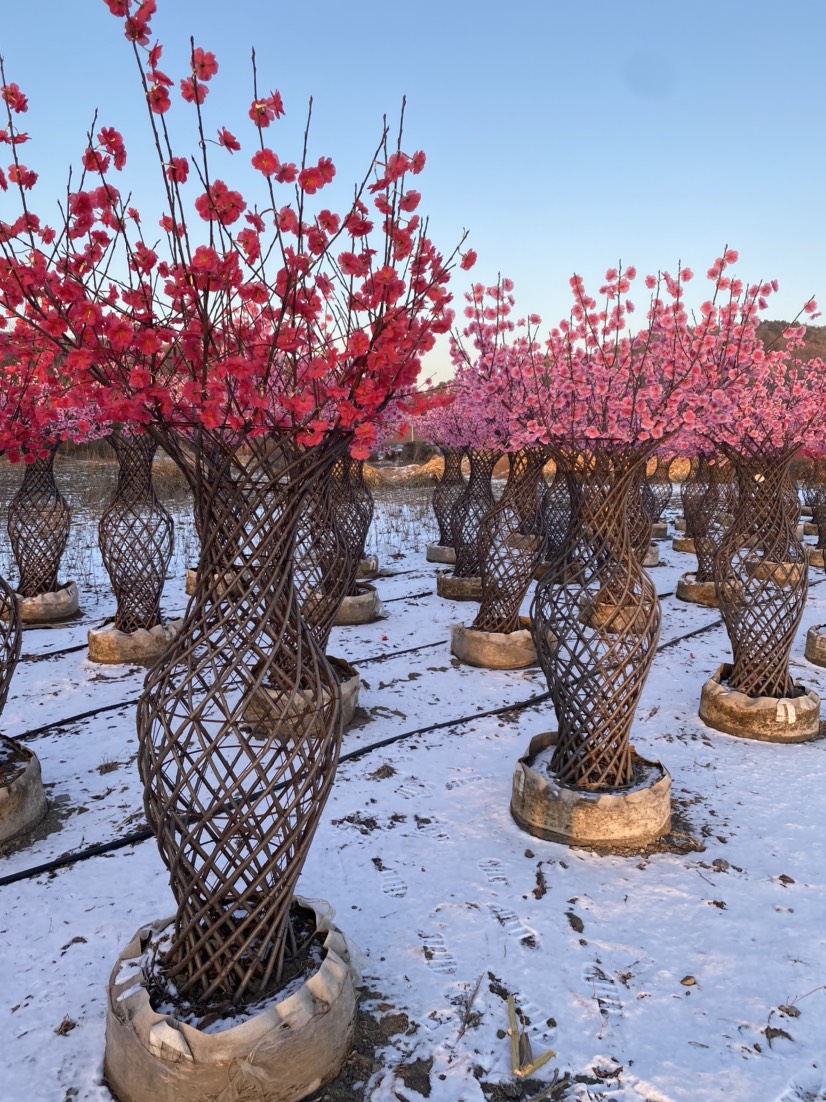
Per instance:
[[[661,648],[633,737],[671,771],[670,845],[599,856],[523,833],[511,776],[530,737],[553,725],[547,701],[530,703],[544,678],[452,658],[450,625],[470,623],[475,606],[436,597],[430,536],[409,506],[380,505],[387,618],[336,628],[330,646],[362,674],[367,722],[345,736],[300,887],[330,901],[363,952],[377,1015],[414,1024],[377,1057],[365,1099],[415,1102],[398,1069],[419,1060],[432,1102],[479,1102],[494,1083],[514,1084],[499,1096],[526,1098],[504,1035],[511,994],[534,1056],[556,1052],[535,1079],[570,1077],[554,1098],[826,1100],[826,741],[742,742],[697,719],[728,642],[714,609],[675,599],[695,560],[661,543]],[[167,614],[185,604],[182,565]],[[143,822],[143,671],[86,660],[88,626],[113,609],[102,571],[88,574],[83,622],[25,631],[2,730],[40,756],[51,829],[0,856],[0,877]],[[825,581],[812,572],[794,673],[826,696],[826,670],[803,658],[806,628],[826,620]],[[101,705],[111,706],[81,717]],[[172,910],[151,840],[0,888],[2,1102],[111,1098],[108,975],[135,929]]]

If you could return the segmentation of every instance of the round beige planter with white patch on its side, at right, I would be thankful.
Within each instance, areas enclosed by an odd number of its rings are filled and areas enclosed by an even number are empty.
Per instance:
[[[805,743],[820,731],[819,698],[797,685],[800,694],[747,696],[729,689],[731,666],[724,662],[703,685],[699,717],[715,731],[738,738],[754,738],[763,743]]]

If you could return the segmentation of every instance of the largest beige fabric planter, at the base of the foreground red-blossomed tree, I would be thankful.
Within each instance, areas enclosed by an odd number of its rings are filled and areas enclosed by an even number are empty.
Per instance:
[[[336,1077],[360,976],[324,905],[296,901],[327,931],[320,966],[292,995],[217,1033],[152,1009],[141,958],[172,919],[138,930],[109,979],[104,1074],[118,1102],[298,1102]]]

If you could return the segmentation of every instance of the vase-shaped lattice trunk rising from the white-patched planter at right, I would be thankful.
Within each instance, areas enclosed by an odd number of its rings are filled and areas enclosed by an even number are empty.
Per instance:
[[[731,641],[730,689],[749,696],[794,694],[789,656],[808,588],[790,464],[795,451],[743,455],[727,450],[740,505],[715,557],[715,583]]]

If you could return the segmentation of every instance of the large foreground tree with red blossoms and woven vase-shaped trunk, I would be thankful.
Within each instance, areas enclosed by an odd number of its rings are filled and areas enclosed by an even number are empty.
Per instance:
[[[340,743],[338,682],[292,596],[302,501],[344,452],[367,456],[383,411],[415,382],[450,326],[459,257],[426,234],[410,186],[425,158],[404,152],[401,128],[395,141],[384,128],[334,213],[328,158],[311,160],[306,139],[294,161],[264,144],[284,107],[254,71],[250,136],[219,121],[216,171],[204,114],[214,55],[193,45],[178,98],[150,46],[153,0],[107,3],[160,154],[161,244],[119,186],[119,132],[97,122],[65,218],[52,228],[35,214],[35,174],[19,160],[25,97],[0,69],[18,197],[0,224],[0,356],[33,365],[46,392],[70,379],[69,410],[95,400],[112,423],[144,426],[192,485],[200,587],[146,680],[139,765],[178,905],[166,973],[184,997],[239,1002],[281,975]],[[173,145],[166,118],[180,109],[195,155]],[[249,144],[259,202],[227,182]]]

